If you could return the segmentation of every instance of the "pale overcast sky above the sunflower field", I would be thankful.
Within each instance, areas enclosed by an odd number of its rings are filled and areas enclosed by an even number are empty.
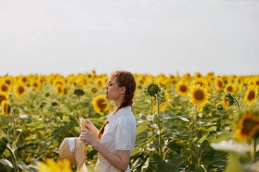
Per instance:
[[[259,75],[259,0],[0,0],[0,75]]]

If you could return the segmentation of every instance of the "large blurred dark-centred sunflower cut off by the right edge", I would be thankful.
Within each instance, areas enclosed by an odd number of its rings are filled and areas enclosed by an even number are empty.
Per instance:
[[[259,113],[249,110],[241,114],[234,138],[237,141],[251,141],[259,133]]]

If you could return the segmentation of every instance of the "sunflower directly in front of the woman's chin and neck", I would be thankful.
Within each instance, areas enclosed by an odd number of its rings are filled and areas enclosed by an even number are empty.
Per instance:
[[[104,113],[110,110],[108,101],[103,94],[100,94],[94,97],[92,100],[92,105],[93,105],[94,111],[101,115],[103,115]]]

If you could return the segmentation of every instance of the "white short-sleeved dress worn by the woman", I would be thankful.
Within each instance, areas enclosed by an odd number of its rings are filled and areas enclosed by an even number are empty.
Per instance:
[[[107,115],[109,123],[106,124],[101,143],[113,154],[118,155],[118,150],[134,149],[136,140],[136,119],[131,112],[131,106],[118,110],[115,114]],[[98,153],[98,160],[94,171],[98,172],[120,172],[114,168],[104,157]],[[125,172],[130,172],[130,167]]]

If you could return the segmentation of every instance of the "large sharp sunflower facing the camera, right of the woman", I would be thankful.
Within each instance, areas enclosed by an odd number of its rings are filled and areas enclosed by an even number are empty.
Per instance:
[[[199,84],[196,84],[194,86],[191,86],[188,90],[187,95],[189,96],[189,101],[191,103],[197,104],[198,106],[198,112],[202,111],[203,106],[209,102],[208,97],[209,93],[205,86],[200,86]]]

